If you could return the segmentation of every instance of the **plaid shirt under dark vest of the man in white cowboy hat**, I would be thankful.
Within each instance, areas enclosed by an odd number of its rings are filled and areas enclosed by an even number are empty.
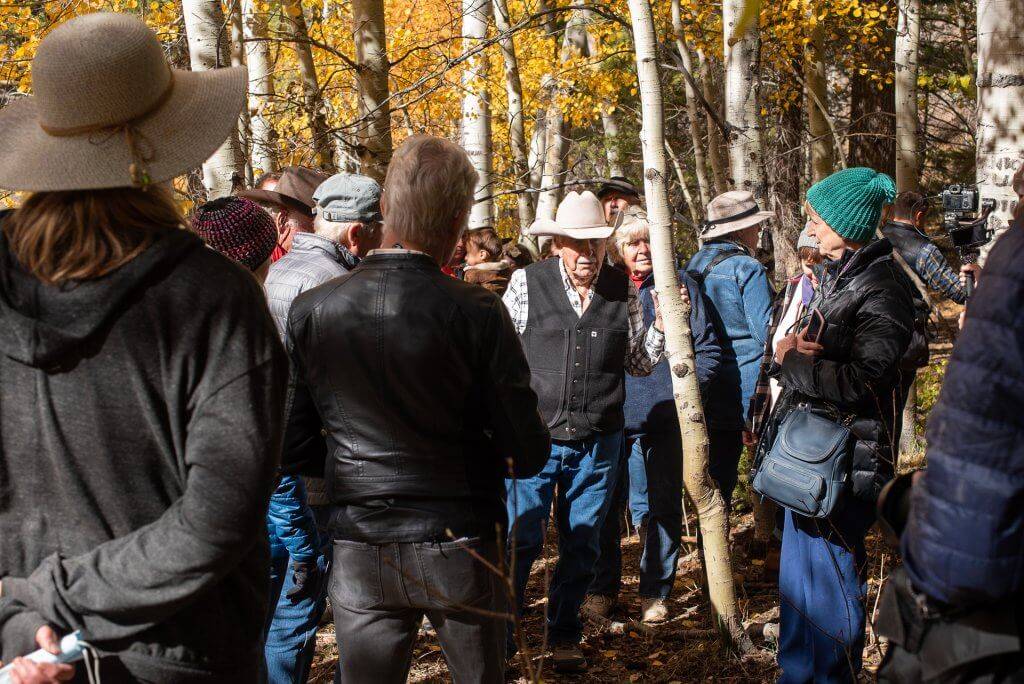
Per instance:
[[[557,257],[554,257],[557,258]],[[562,274],[562,286],[565,288],[565,296],[569,300],[569,305],[578,316],[583,316],[584,303],[580,297],[569,275],[565,272],[565,265],[558,260],[559,271]],[[654,326],[644,329],[643,309],[640,306],[640,297],[637,286],[632,281],[629,282],[629,290],[626,295],[626,305],[629,310],[630,324],[630,347],[626,353],[626,372],[632,376],[650,375],[654,366],[662,360],[665,354],[665,335]],[[587,302],[594,298],[594,290],[587,292]],[[522,335],[526,330],[526,320],[529,318],[529,297],[526,293],[526,271],[519,269],[512,273],[509,282],[509,289],[505,291],[502,299],[512,316],[517,333]]]

